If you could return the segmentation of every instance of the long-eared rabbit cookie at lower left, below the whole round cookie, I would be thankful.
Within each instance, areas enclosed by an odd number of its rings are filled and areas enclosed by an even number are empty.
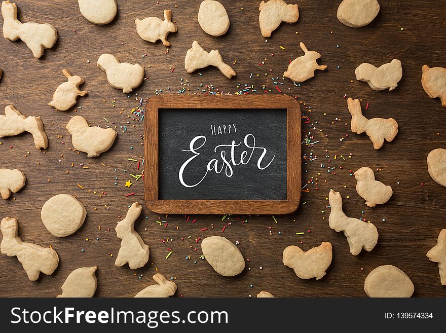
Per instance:
[[[51,275],[59,265],[59,256],[50,247],[42,247],[36,244],[23,242],[17,236],[17,219],[5,217],[0,224],[3,234],[0,252],[8,256],[17,256],[28,279],[35,281],[40,272]]]

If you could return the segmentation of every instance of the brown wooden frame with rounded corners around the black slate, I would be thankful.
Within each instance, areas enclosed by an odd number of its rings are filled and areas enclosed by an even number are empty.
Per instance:
[[[286,109],[286,200],[159,200],[160,109]],[[155,95],[146,104],[144,117],[144,200],[161,214],[288,214],[301,198],[301,112],[288,95]]]

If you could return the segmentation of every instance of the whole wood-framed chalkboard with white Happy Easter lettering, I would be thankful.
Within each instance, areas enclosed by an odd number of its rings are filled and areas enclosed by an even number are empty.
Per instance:
[[[299,104],[286,95],[152,97],[144,198],[159,213],[294,211],[300,200]]]

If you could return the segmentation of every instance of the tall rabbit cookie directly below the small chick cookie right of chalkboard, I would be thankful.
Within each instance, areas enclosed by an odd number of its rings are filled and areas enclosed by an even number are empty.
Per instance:
[[[342,197],[339,192],[330,191],[330,216],[328,224],[336,232],[343,231],[350,246],[350,253],[358,255],[362,249],[371,251],[378,242],[378,230],[371,223],[348,217],[342,210]]]

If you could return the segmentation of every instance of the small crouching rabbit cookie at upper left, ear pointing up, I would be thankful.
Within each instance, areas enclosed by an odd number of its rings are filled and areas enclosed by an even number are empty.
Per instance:
[[[72,76],[68,69],[65,68],[62,69],[62,73],[68,81],[57,87],[53,94],[53,100],[48,105],[56,110],[66,111],[76,104],[78,96],[85,96],[87,92],[79,90],[79,86],[84,83],[84,79],[77,75]]]

